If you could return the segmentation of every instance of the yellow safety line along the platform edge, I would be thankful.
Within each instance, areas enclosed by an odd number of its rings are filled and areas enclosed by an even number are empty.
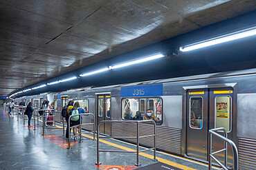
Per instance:
[[[39,121],[40,121],[40,122],[43,122],[43,120],[39,120]],[[55,125],[55,127],[63,128],[63,127],[58,126],[58,125]],[[93,136],[89,136],[89,135],[86,135],[86,134],[82,134],[82,136],[84,136],[84,137],[86,137],[86,138],[91,138],[91,139],[93,139]],[[95,140],[97,140],[97,138],[95,138]],[[100,139],[100,142],[102,142],[102,143],[104,143],[104,144],[107,144],[107,145],[111,145],[111,146],[113,146],[113,147],[117,147],[117,148],[119,148],[119,149],[123,149],[123,150],[125,150],[125,151],[135,151],[134,149],[130,149],[130,148],[128,148],[128,147],[123,147],[122,145],[117,145],[117,144],[114,144],[113,142],[108,142],[107,140],[102,140],[102,139]],[[162,152],[162,153],[165,153],[165,152],[163,152],[163,151],[161,151],[161,152]],[[136,153],[135,153],[135,154],[136,154]],[[170,153],[167,153],[167,154],[170,154]],[[140,155],[140,156],[144,156],[144,157],[149,158],[149,159],[153,159],[153,158],[154,158],[154,156],[149,155],[149,154],[147,154],[147,153],[143,153],[143,152],[140,152],[139,155]],[[172,154],[170,154],[170,155],[173,156]],[[176,156],[176,157],[183,158],[183,157],[181,157],[181,156]],[[158,158],[158,157],[156,157],[156,159],[158,160],[158,162],[163,162],[163,163],[165,163],[165,164],[169,164],[169,165],[171,165],[171,166],[173,166],[173,167],[176,167],[176,168],[179,168],[179,169],[196,170],[196,169],[187,167],[187,166],[185,166],[185,165],[172,162],[172,161],[170,161],[170,160],[165,160],[165,159],[163,159],[163,158]],[[188,159],[188,158],[183,158],[183,159],[190,160],[190,159]],[[197,162],[196,160],[190,160],[190,161],[192,161],[192,162]],[[202,162],[199,162],[199,163],[204,164],[204,163],[202,163]]]

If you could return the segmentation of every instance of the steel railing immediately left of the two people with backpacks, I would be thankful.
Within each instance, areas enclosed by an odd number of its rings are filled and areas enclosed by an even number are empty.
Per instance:
[[[51,116],[53,116],[53,120],[46,120],[46,113],[52,113]],[[53,110],[49,110],[49,109],[44,109],[44,114],[43,114],[43,135],[44,135],[44,129],[60,129],[59,127],[56,127],[56,121],[62,122],[62,129],[63,129],[63,135],[65,134],[65,120],[64,118],[62,118],[62,120],[56,120],[55,119],[55,114],[57,113],[62,113],[62,111],[53,111]],[[48,115],[47,115],[48,117]],[[38,117],[37,117],[38,118]],[[53,127],[46,127],[46,123],[47,122],[54,122],[54,126]]]

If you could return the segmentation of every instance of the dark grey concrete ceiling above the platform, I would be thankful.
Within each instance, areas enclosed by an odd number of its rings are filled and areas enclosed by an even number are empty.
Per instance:
[[[254,0],[0,1],[0,95],[255,9]]]

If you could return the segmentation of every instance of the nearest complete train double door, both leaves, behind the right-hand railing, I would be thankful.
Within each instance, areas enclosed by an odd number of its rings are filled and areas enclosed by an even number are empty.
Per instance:
[[[208,130],[225,127],[232,131],[232,88],[190,89],[187,92],[187,146],[188,156],[208,159]],[[228,138],[233,140],[232,133]],[[213,151],[223,149],[223,142],[212,138]],[[229,149],[230,150],[230,149]],[[223,158],[223,153],[219,153]],[[232,151],[228,153],[232,160]],[[231,158],[231,159],[230,159]]]

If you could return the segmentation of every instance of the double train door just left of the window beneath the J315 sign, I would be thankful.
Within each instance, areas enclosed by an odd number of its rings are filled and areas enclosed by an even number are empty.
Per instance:
[[[100,94],[97,96],[98,105],[97,105],[97,122],[99,123],[102,120],[111,120],[111,97],[109,94]],[[100,125],[99,129],[102,134],[111,134],[111,124],[104,123]]]

